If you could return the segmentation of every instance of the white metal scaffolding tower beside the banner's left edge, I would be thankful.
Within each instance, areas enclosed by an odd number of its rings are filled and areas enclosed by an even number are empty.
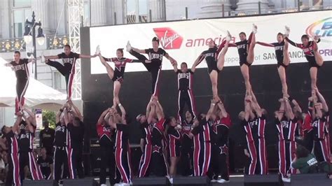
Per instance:
[[[69,45],[72,52],[81,52],[80,45],[80,27],[81,18],[83,17],[84,0],[67,0],[68,21],[69,21]],[[81,59],[76,60],[75,77],[72,86],[72,99],[82,98],[81,89]]]

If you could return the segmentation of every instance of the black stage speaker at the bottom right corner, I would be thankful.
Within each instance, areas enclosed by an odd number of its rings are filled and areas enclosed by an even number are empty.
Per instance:
[[[291,186],[331,186],[332,180],[328,179],[326,173],[293,174],[291,175]]]

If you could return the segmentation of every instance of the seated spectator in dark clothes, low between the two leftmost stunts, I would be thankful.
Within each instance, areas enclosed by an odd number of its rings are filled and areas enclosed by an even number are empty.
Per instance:
[[[53,179],[53,158],[46,154],[46,148],[41,148],[41,155],[37,164],[41,167],[41,173],[46,180]]]

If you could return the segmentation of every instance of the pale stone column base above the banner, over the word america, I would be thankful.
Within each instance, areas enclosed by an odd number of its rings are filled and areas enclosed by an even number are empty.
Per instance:
[[[228,16],[230,11],[230,1],[229,0],[205,0],[203,6],[201,6],[200,17],[222,17],[223,11],[224,16]]]

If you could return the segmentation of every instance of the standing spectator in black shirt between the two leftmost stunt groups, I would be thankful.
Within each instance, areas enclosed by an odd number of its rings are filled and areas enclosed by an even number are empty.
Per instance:
[[[48,127],[48,121],[43,122],[44,129],[39,134],[39,145],[46,148],[47,155],[53,156],[53,142],[55,130]]]

